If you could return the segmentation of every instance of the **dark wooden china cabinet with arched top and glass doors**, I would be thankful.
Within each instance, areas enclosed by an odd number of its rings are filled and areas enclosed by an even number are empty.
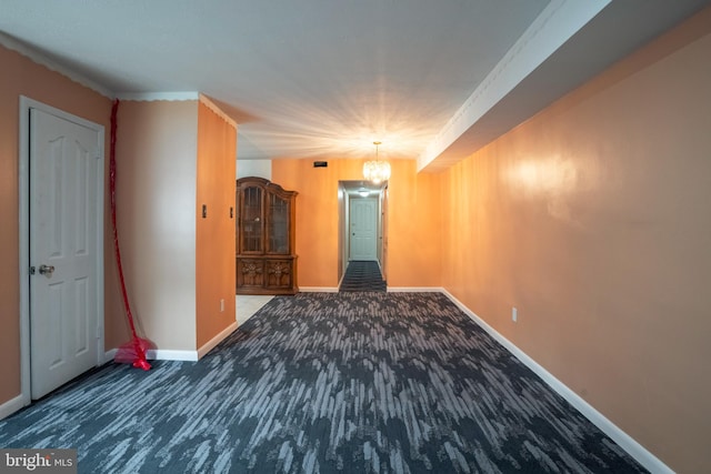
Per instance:
[[[296,191],[263,178],[237,180],[237,294],[296,294]]]

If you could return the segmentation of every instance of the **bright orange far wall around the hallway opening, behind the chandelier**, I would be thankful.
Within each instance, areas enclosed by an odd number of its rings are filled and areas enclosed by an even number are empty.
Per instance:
[[[300,286],[338,286],[338,182],[361,180],[360,160],[274,160],[272,181],[297,196]],[[440,286],[439,179],[417,174],[414,160],[391,161],[389,181],[389,286]]]

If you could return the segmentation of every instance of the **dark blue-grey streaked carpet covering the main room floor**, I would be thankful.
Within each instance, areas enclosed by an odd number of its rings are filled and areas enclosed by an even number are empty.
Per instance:
[[[197,363],[107,365],[0,422],[82,473],[638,473],[437,293],[274,297]]]

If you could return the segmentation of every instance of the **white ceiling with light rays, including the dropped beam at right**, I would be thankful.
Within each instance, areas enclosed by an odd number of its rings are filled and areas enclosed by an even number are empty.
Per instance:
[[[0,42],[109,97],[204,93],[239,123],[239,159],[379,140],[438,170],[710,2],[0,0]]]

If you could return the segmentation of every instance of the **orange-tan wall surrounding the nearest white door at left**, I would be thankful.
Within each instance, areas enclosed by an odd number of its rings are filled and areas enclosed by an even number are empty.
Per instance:
[[[18,134],[20,94],[102,124],[108,135],[111,101],[77,82],[0,47],[0,404],[20,395],[20,289]],[[108,177],[108,169],[107,177]],[[108,189],[108,185],[107,185]],[[108,212],[107,212],[108,215]],[[108,224],[108,220],[106,221]],[[107,226],[108,232],[108,226]],[[107,255],[107,266],[110,265]],[[107,307],[114,293],[107,275]],[[106,313],[107,344],[116,340],[113,312]]]

